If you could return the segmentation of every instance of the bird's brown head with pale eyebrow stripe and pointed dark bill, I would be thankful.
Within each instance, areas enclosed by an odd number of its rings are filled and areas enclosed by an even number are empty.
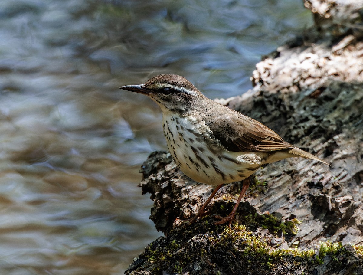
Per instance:
[[[163,112],[183,112],[191,107],[194,100],[204,98],[192,83],[176,74],[156,75],[144,84],[122,86],[120,89],[147,95],[158,103]]]

